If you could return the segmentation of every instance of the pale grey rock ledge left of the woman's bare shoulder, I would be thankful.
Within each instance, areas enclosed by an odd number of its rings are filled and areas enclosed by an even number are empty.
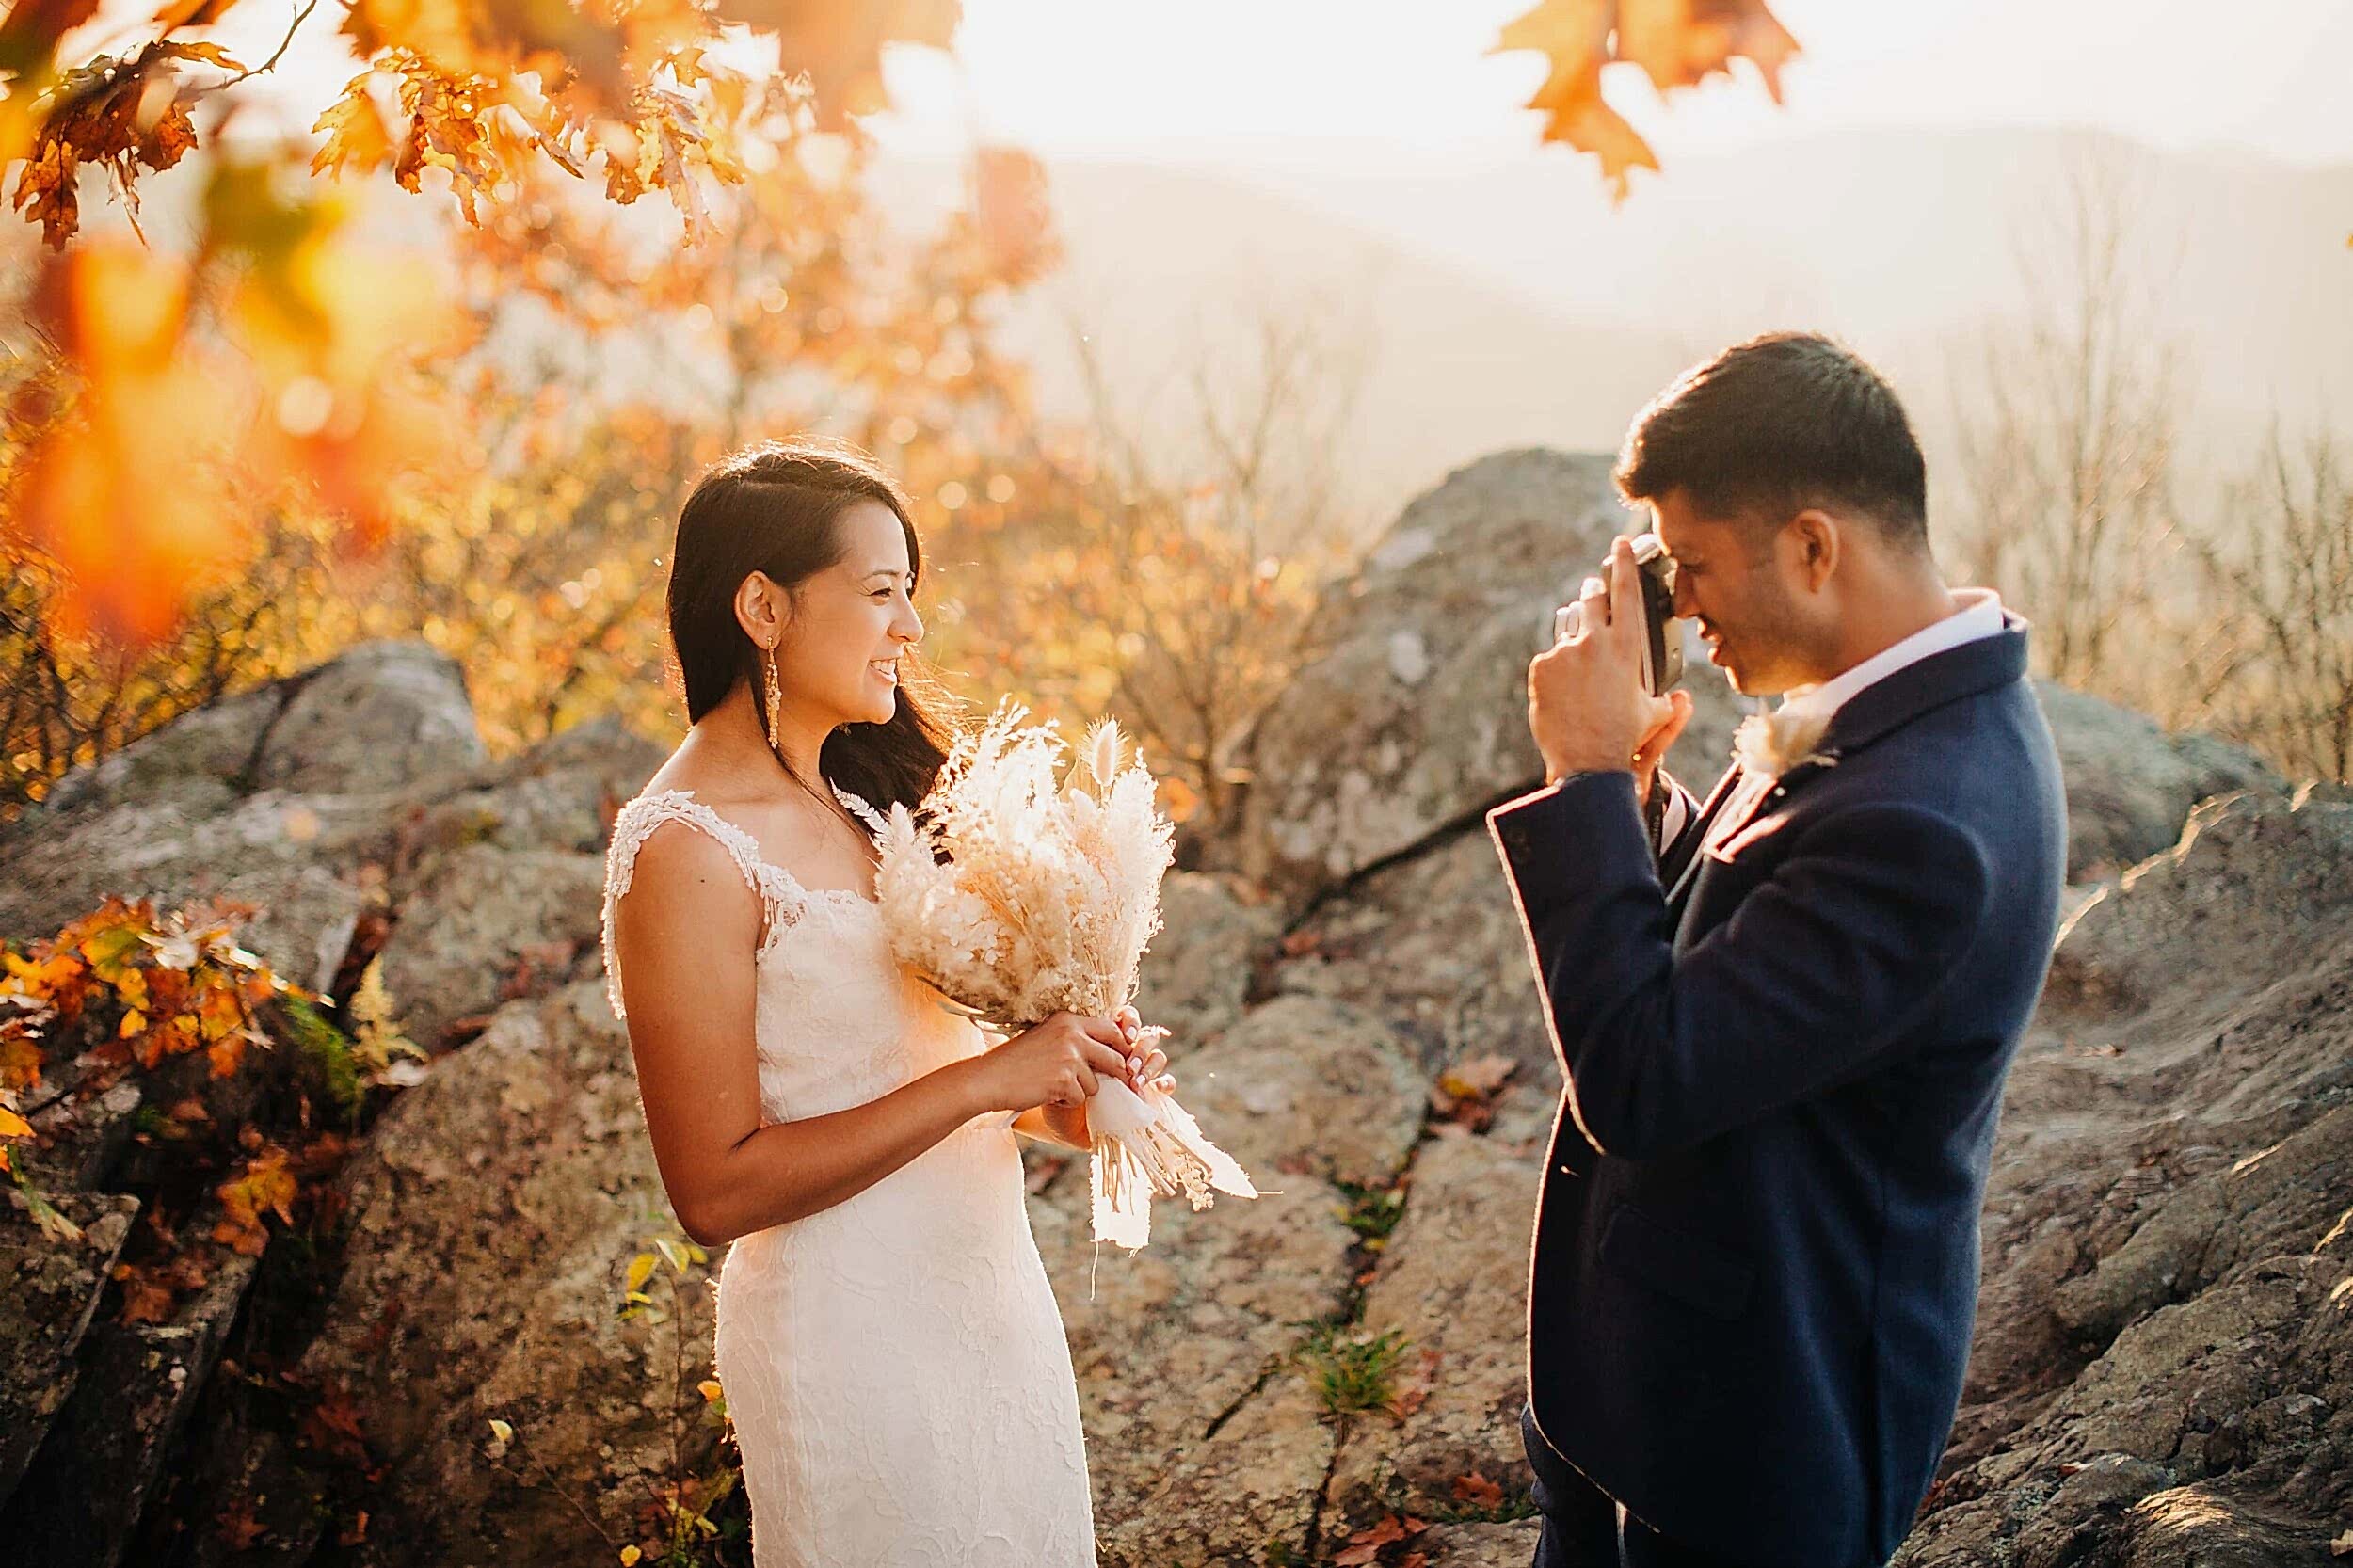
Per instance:
[[[659,763],[616,720],[485,763],[456,664],[365,643],[61,779],[0,841],[0,932],[54,932],[108,895],[235,899],[256,909],[240,942],[325,991],[391,876],[416,916],[395,998],[416,991],[428,1038],[496,1001],[520,954],[595,935],[612,812]],[[539,968],[544,984],[567,972]]]

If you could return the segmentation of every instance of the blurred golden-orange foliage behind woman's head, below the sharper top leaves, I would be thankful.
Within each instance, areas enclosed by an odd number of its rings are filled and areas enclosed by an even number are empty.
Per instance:
[[[221,162],[207,221],[235,210],[282,250],[82,242],[24,275],[0,817],[374,636],[459,659],[499,753],[600,711],[675,735],[678,504],[725,450],[800,428],[878,452],[915,497],[925,652],[951,685],[1118,706],[1179,812],[1226,810],[1332,532],[1271,490],[1264,421],[1167,478],[1035,414],[995,325],[1054,259],[1026,155],[981,153],[967,210],[908,235],[864,193],[859,134],[816,129],[802,89],[772,85],[746,127],[765,153],[701,245],[551,184],[452,226],[454,266],[433,266],[362,245],[299,177]],[[153,320],[125,339],[132,299]]]

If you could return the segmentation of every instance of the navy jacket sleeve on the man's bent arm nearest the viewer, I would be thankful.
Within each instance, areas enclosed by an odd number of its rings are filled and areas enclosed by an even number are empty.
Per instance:
[[[1631,775],[1579,775],[1487,817],[1560,1050],[1602,1154],[1687,1149],[1871,1069],[1986,913],[1958,822],[1857,803],[1777,857],[1732,921],[1678,951]]]

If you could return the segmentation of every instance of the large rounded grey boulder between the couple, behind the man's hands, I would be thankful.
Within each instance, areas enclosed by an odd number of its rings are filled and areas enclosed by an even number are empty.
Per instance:
[[[1541,782],[1527,662],[1640,527],[1598,454],[1499,452],[1414,499],[1325,591],[1306,664],[1252,732],[1245,871],[1301,902]],[[1713,777],[1734,699],[1704,664],[1687,685],[1699,716],[1673,760]]]

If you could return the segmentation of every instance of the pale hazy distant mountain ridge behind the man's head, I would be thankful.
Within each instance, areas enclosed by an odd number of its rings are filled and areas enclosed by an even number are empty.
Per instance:
[[[1951,407],[1988,323],[2024,301],[2021,250],[2064,264],[2045,217],[2071,160],[2141,202],[2127,273],[2179,344],[2193,447],[2252,452],[2280,414],[2353,405],[2353,165],[2162,153],[2059,129],[1887,129],[1678,160],[1612,212],[1565,155],[1386,172],[1052,158],[1068,264],[1009,323],[1049,405],[1075,405],[1071,320],[1139,398],[1252,299],[1362,327],[1348,464],[1369,511],[1508,445],[1612,450],[1673,372],[1769,327],[1854,341],[1951,466]],[[946,160],[885,158],[920,219]]]

